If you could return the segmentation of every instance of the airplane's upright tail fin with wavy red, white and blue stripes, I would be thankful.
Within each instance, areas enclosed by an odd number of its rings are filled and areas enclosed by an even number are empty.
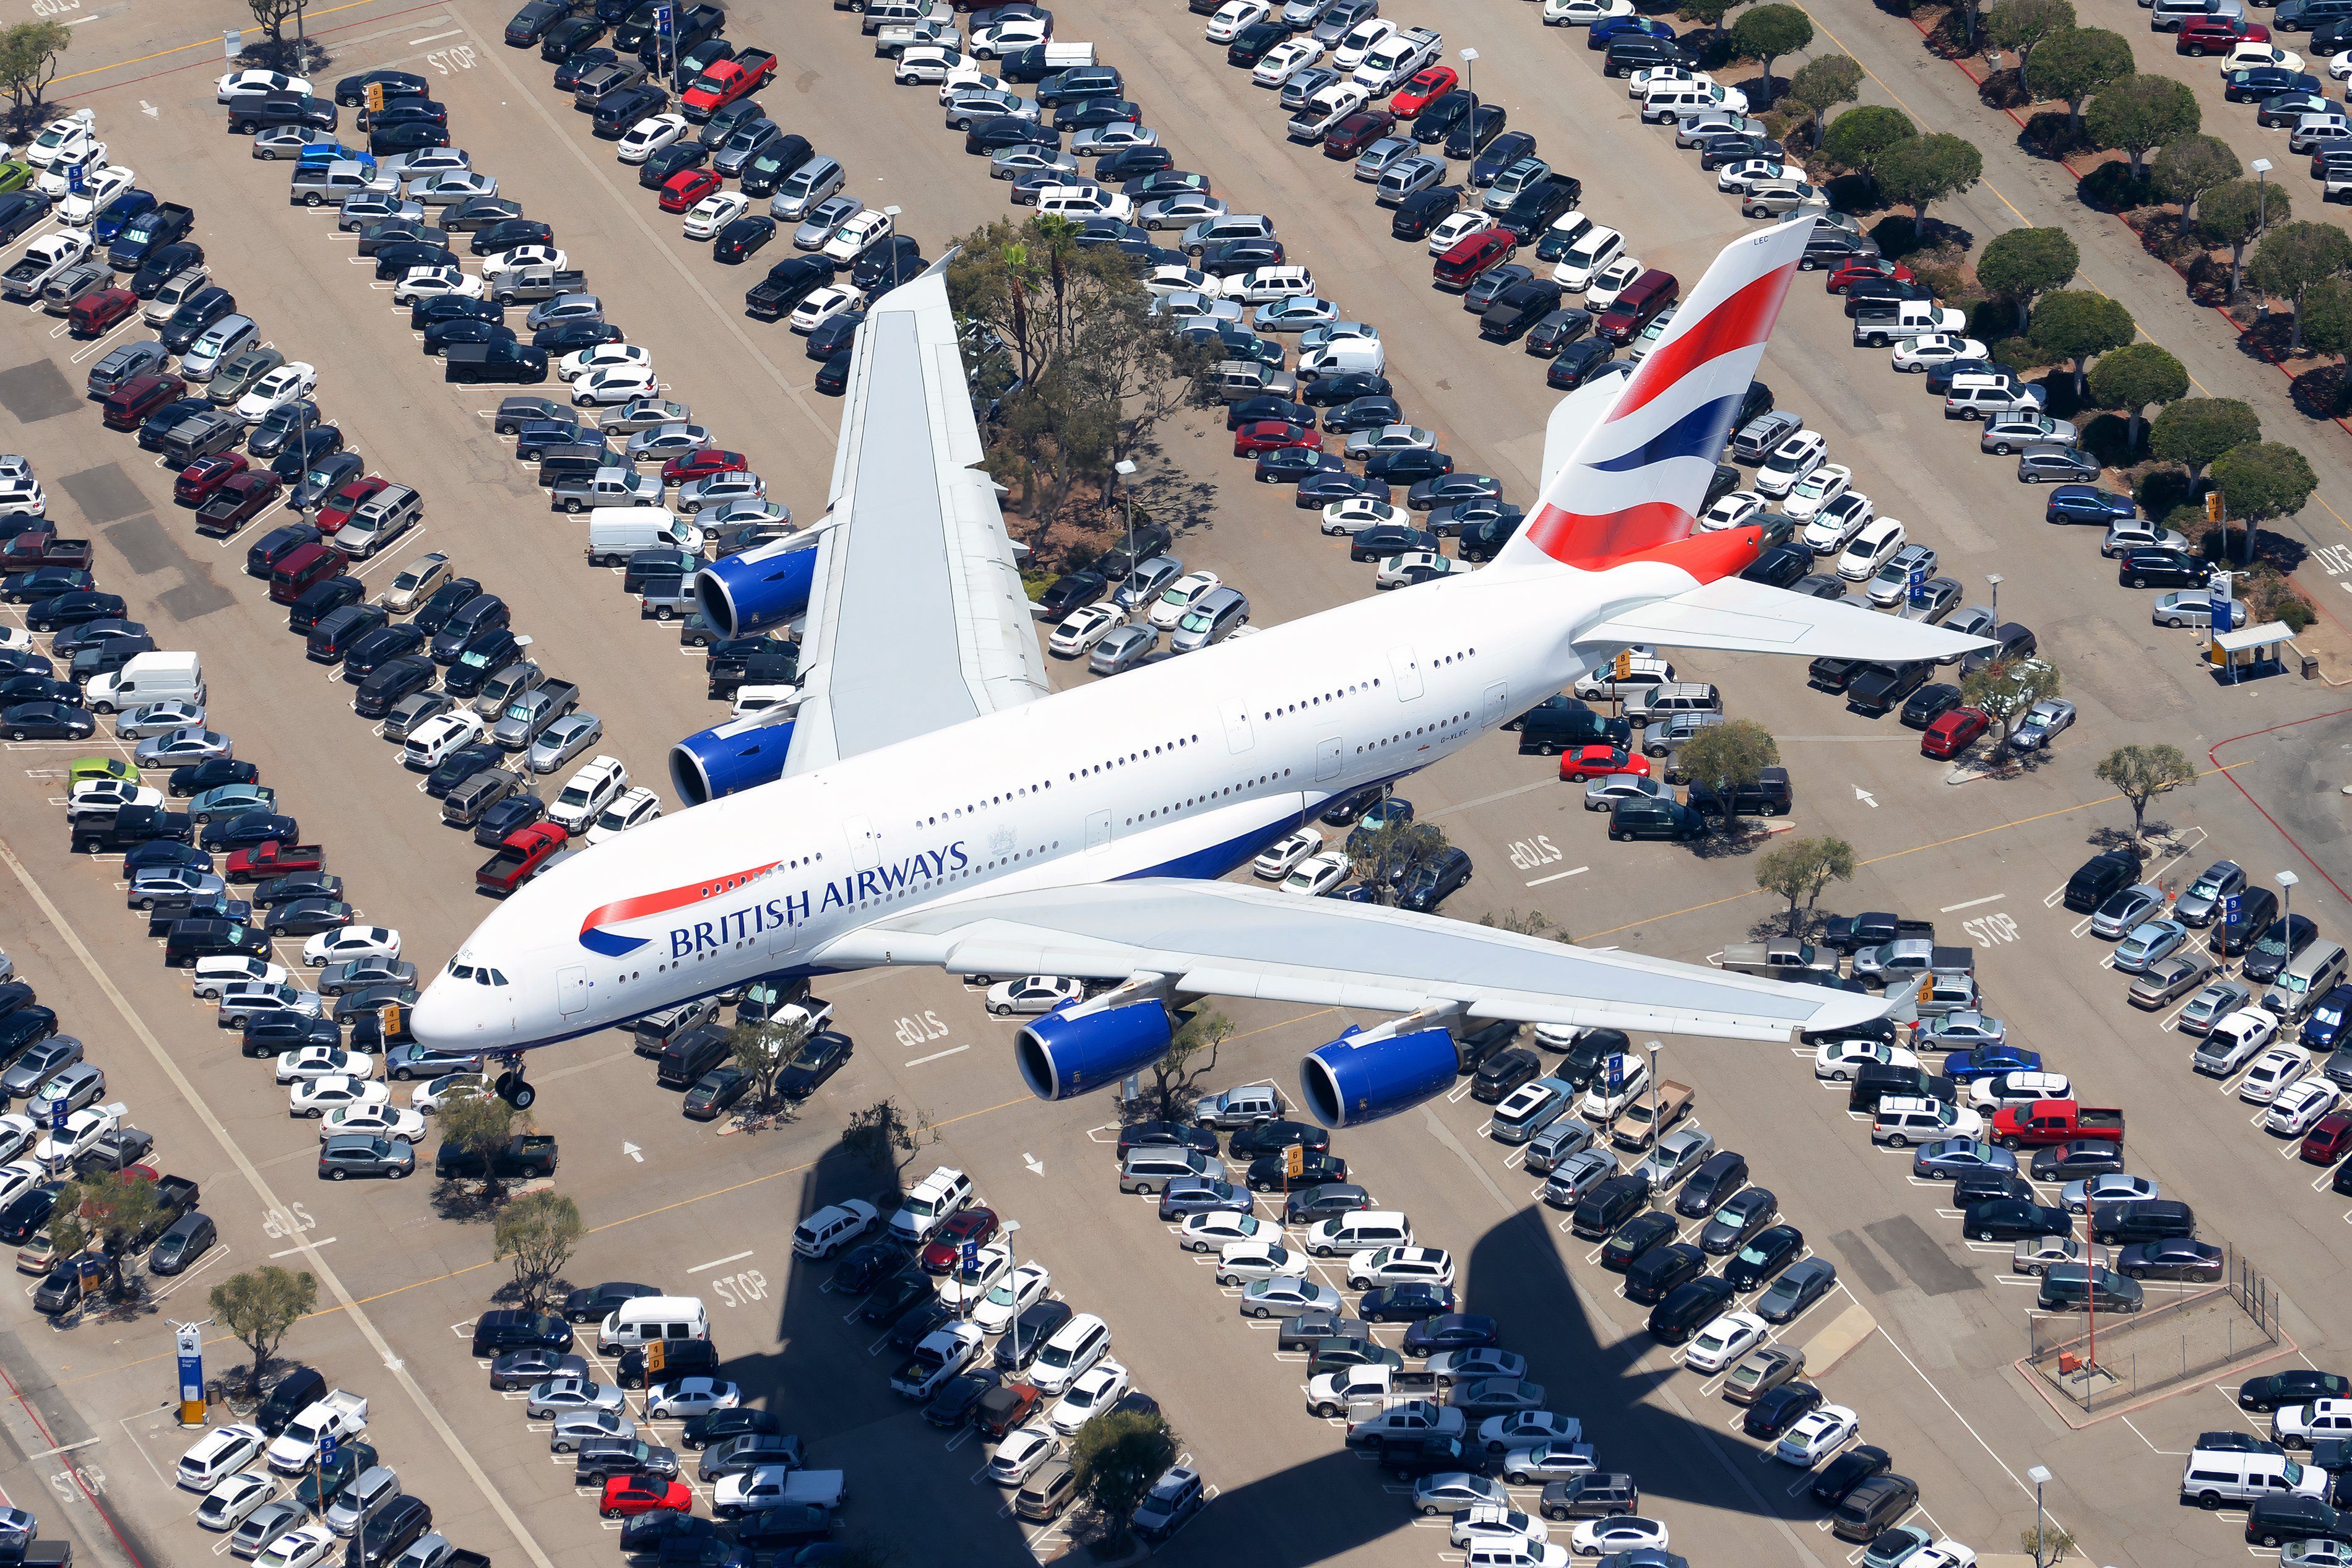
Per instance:
[[[1757,557],[1759,529],[1698,534],[1698,508],[1811,235],[1806,216],[1726,244],[1630,376],[1559,407],[1552,442],[1573,442],[1569,456],[1496,564],[1665,562],[1712,583]]]

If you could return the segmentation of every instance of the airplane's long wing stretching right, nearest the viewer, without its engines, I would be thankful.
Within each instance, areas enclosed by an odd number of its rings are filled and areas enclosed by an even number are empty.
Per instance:
[[[1437,914],[1157,877],[913,910],[814,957],[995,976],[1160,973],[1178,992],[1218,997],[1395,1013],[1461,1004],[1470,1018],[1729,1039],[1795,1039],[1799,1030],[1879,1018],[1889,1006]]]

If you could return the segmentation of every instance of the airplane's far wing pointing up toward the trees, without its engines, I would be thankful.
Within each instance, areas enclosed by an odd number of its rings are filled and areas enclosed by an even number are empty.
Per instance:
[[[934,268],[858,327],[786,773],[1044,696],[964,357]]]

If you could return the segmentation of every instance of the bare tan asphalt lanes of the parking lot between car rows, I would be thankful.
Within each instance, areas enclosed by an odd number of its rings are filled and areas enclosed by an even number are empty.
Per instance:
[[[1538,132],[1545,155],[1585,181],[1585,212],[1623,228],[1653,266],[1696,277],[1743,228],[1736,207],[1675,153],[1670,132],[1635,120],[1581,33],[1541,28],[1534,12],[1430,2],[1414,19],[1446,33],[1449,56],[1465,42],[1482,49],[1479,96],[1505,103],[1512,127]],[[689,402],[715,440],[767,477],[771,498],[814,520],[840,404],[811,390],[816,364],[800,339],[741,315],[757,263],[720,268],[684,242],[633,172],[612,162],[609,143],[593,141],[586,118],[548,87],[536,52],[499,42],[503,21],[506,9],[482,0],[372,0],[310,14],[332,52],[320,75],[395,66],[435,78],[454,141],[557,228],[612,317],[652,346],[663,395]],[[1272,214],[1289,259],[1312,266],[1319,292],[1381,327],[1406,418],[1439,430],[1465,470],[1503,477],[1505,494],[1529,503],[1557,397],[1543,388],[1543,362],[1479,343],[1458,301],[1428,289],[1423,247],[1388,237],[1388,214],[1345,165],[1282,141],[1272,94],[1202,42],[1202,21],[1174,5],[1065,7],[1058,26],[1131,73],[1134,96],[1181,167],[1207,172],[1237,212]],[[513,604],[534,658],[581,684],[581,705],[604,722],[600,750],[675,809],[668,743],[724,717],[703,693],[699,656],[680,651],[675,628],[640,621],[619,574],[581,562],[581,524],[548,510],[489,430],[485,414],[503,388],[442,386],[416,355],[405,310],[353,266],[332,216],[285,205],[282,165],[249,160],[247,141],[226,134],[212,101],[219,40],[200,38],[209,24],[249,26],[249,14],[223,0],[169,14],[92,7],[68,73],[96,73],[68,75],[54,96],[96,110],[113,160],[136,167],[141,186],[198,209],[216,280],[275,348],[320,369],[325,416],[369,468],[426,494],[423,527],[372,564],[367,581],[381,585],[412,555],[449,552],[459,571]],[[1007,212],[1004,186],[941,129],[931,89],[891,87],[854,16],[746,0],[731,7],[729,31],[779,47],[786,68],[762,94],[771,113],[842,158],[851,193],[901,207],[898,226],[924,254]],[[485,851],[440,825],[414,776],[348,712],[343,682],[299,656],[280,607],[242,576],[242,548],[261,524],[226,548],[195,536],[186,508],[172,503],[172,473],[129,437],[101,433],[96,409],[80,400],[89,346],[52,327],[21,308],[0,315],[12,449],[45,480],[61,529],[99,541],[99,585],[122,592],[165,646],[202,654],[209,722],[261,764],[303,837],[327,844],[365,919],[397,926],[409,957],[437,966],[487,907],[470,884]],[[2129,809],[2091,776],[2093,762],[2131,741],[2176,743],[2227,776],[2159,802],[2152,818],[2176,849],[2152,870],[2183,884],[2223,856],[2260,882],[2293,867],[2303,875],[2296,912],[2340,938],[2340,705],[2305,682],[2211,684],[2194,632],[2150,625],[2147,595],[2112,583],[2096,541],[2046,527],[2042,496],[2013,482],[2011,463],[1978,456],[1973,430],[1950,428],[1915,378],[1889,371],[1884,350],[1846,346],[1846,320],[1816,275],[1792,292],[1764,378],[1780,407],[1830,435],[1832,458],[1853,468],[1882,515],[1940,550],[1940,571],[1964,583],[1966,602],[1990,595],[1987,574],[2004,578],[2002,618],[2039,632],[2082,717],[2020,776],[1950,783],[1947,766],[1917,755],[1912,731],[1849,715],[1785,661],[1677,665],[1719,682],[1736,715],[1778,736],[1797,790],[1792,830],[1856,846],[1863,870],[1828,903],[1936,919],[1940,940],[1976,947],[1987,1006],[2011,1037],[2044,1051],[2093,1103],[2122,1105],[2136,1124],[2133,1171],[2190,1199],[2201,1234],[2227,1237],[2270,1274],[2291,1302],[2293,1352],[2284,1354],[2340,1366],[2345,1326],[2331,1281],[2352,1251],[2347,1204],[2312,1192],[2310,1166],[2279,1159],[2277,1140],[2244,1126],[2244,1105],[2192,1077],[2192,1041],[2161,1030],[2169,1011],[2126,1009],[2122,976],[2103,966],[2107,945],[2051,907],[2096,837],[2129,827]],[[1223,418],[1190,414],[1164,428],[1141,475],[1145,501],[1190,524],[1176,545],[1185,564],[1247,588],[1261,623],[1369,592],[1374,569],[1348,564],[1345,541],[1317,536],[1287,489],[1251,487],[1225,447]],[[1077,665],[1056,663],[1056,682],[1084,679]],[[108,1070],[108,1098],[155,1133],[158,1164],[202,1182],[226,1246],[158,1314],[52,1328],[26,1307],[0,1326],[0,1361],[19,1389],[0,1418],[12,1446],[0,1488],[40,1512],[45,1533],[64,1521],[99,1561],[172,1561],[212,1544],[188,1519],[193,1493],[169,1486],[188,1434],[172,1420],[165,1319],[200,1316],[209,1284],[275,1255],[322,1284],[320,1314],[289,1335],[285,1354],[372,1396],[369,1441],[433,1505],[437,1530],[494,1561],[539,1568],[567,1552],[609,1552],[609,1530],[574,1495],[569,1469],[543,1458],[539,1434],[522,1432],[520,1408],[508,1408],[515,1401],[489,1392],[466,1354],[473,1319],[503,1281],[489,1225],[442,1213],[430,1178],[315,1185],[313,1128],[287,1119],[285,1091],[259,1063],[240,1060],[183,978],[158,964],[143,926],[120,907],[120,867],[66,853],[54,804],[61,769],[89,752],[87,743],[7,750],[0,839],[9,877],[0,886],[12,896],[0,900],[0,950],[64,1027],[89,1041]],[[1477,879],[1446,905],[1454,917],[1541,910],[1588,945],[1705,961],[1778,912],[1752,889],[1752,853],[1606,844],[1581,790],[1559,783],[1555,764],[1517,757],[1508,738],[1402,792],[1477,863]],[[722,1140],[680,1119],[670,1091],[654,1088],[619,1034],[548,1053],[532,1081],[541,1126],[562,1140],[557,1185],[590,1225],[569,1276],[703,1295],[729,1375],[802,1432],[818,1462],[849,1474],[847,1537],[894,1542],[908,1559],[946,1547],[974,1563],[1070,1549],[1061,1530],[1004,1516],[1004,1495],[978,1476],[983,1446],[943,1439],[891,1396],[877,1331],[844,1321],[856,1300],[830,1293],[826,1269],[790,1258],[800,1215],[875,1190],[875,1173],[847,1161],[837,1135],[849,1112],[896,1095],[927,1110],[941,1133],[908,1159],[910,1175],[955,1164],[990,1206],[1021,1220],[1018,1255],[1047,1262],[1065,1300],[1110,1321],[1117,1359],[1216,1488],[1167,1556],[1404,1563],[1444,1549],[1442,1530],[1406,1528],[1397,1488],[1303,1410],[1301,1359],[1277,1356],[1272,1333],[1235,1314],[1230,1293],[1174,1246],[1145,1201],[1115,1192],[1108,1100],[1030,1100],[1007,1072],[1011,1025],[990,1020],[953,976],[854,976],[821,983],[818,994],[835,1001],[856,1058],[781,1128]],[[1228,1013],[1237,1034],[1211,1086],[1294,1091],[1305,1048],[1348,1023],[1376,1023],[1247,1004]],[[2034,1519],[2027,1469],[2046,1465],[2056,1476],[2049,1512],[2093,1561],[2190,1563],[2239,1549],[2227,1521],[2173,1505],[2187,1439],[2241,1425],[2220,1394],[2192,1387],[2129,1420],[2072,1427],[2011,1366],[2027,1349],[2032,1295],[2006,1274],[2006,1246],[1964,1246],[1947,1194],[1912,1182],[1905,1159],[1872,1150],[1867,1126],[1849,1119],[1844,1098],[1820,1088],[1804,1060],[1778,1046],[1682,1039],[1661,1060],[1668,1077],[1698,1088],[1696,1119],[1750,1157],[1813,1253],[1837,1262],[1839,1291],[1783,1338],[1809,1347],[1828,1396],[1860,1415],[1860,1441],[1889,1448],[1919,1481],[1926,1528],[1985,1556],[2013,1554]],[[1451,1095],[1343,1133],[1336,1152],[1383,1206],[1416,1218],[1423,1244],[1454,1253],[1463,1309],[1503,1321],[1505,1345],[1529,1356],[1552,1408],[1583,1418],[1602,1467],[1639,1479],[1644,1512],[1670,1523],[1677,1554],[1693,1563],[1846,1556],[1818,1528],[1797,1474],[1738,1434],[1738,1410],[1708,1380],[1651,1345],[1642,1309],[1590,1260],[1592,1244],[1534,1201],[1538,1182],[1482,1135],[1484,1119],[1484,1107]],[[242,1359],[216,1335],[207,1331],[212,1375]]]

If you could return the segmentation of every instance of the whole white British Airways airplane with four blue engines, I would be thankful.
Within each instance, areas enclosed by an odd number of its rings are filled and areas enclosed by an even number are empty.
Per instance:
[[[974,463],[934,273],[868,315],[816,541],[699,581],[731,635],[807,616],[783,724],[680,743],[689,811],[517,891],[414,1032],[522,1051],[767,973],[934,964],[1115,980],[1018,1032],[1068,1098],[1143,1067],[1200,994],[1395,1013],[1312,1051],[1327,1126],[1454,1081],[1449,1025],[1517,1018],[1790,1039],[1884,1004],[1376,905],[1216,882],[1336,797],[1402,778],[1632,644],[1875,661],[1983,646],[1738,578],[1759,529],[1696,531],[1811,219],[1724,247],[1639,367],[1552,411],[1543,501],[1496,562],[1073,691],[1047,691]],[[710,799],[706,799],[710,797]]]

